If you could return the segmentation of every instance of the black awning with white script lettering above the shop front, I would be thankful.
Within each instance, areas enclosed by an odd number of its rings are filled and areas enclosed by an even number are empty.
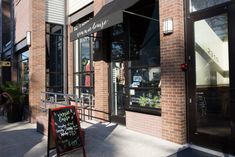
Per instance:
[[[87,24],[70,34],[70,40],[87,36],[105,28],[123,22],[123,11],[139,0],[113,0],[103,8]]]

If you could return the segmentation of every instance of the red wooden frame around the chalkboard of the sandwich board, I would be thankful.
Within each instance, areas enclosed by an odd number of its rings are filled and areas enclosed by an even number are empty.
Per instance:
[[[66,150],[60,151],[59,146],[58,146],[58,141],[57,141],[55,120],[54,120],[54,114],[53,113],[56,112],[56,111],[64,110],[64,109],[73,109],[75,111],[76,123],[78,125],[77,134],[79,136],[78,138],[80,140],[79,141],[80,146],[75,147],[75,148],[71,147],[71,148],[67,148]],[[83,138],[82,129],[81,129],[81,126],[80,126],[80,119],[79,119],[79,115],[78,115],[78,112],[77,112],[77,109],[76,109],[75,106],[63,106],[63,107],[59,107],[59,108],[49,109],[47,157],[49,157],[50,150],[52,150],[52,149],[56,149],[57,156],[61,156],[61,155],[67,154],[69,152],[73,152],[75,150],[82,149],[83,156],[86,157],[86,151],[85,151],[84,141],[83,140],[84,140],[84,138]]]

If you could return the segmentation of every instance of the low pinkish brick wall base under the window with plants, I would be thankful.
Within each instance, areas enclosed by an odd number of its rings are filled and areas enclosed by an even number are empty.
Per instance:
[[[126,111],[126,127],[140,133],[162,137],[162,118],[160,116]]]

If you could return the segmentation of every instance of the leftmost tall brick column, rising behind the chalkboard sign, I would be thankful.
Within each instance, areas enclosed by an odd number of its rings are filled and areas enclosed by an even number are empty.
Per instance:
[[[45,91],[45,1],[31,1],[31,47],[29,48],[29,104],[35,122],[41,91]]]

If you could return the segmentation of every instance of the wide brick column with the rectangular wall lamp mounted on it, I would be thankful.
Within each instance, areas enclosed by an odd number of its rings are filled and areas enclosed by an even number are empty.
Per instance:
[[[162,137],[186,142],[185,62],[183,0],[159,0],[161,40]],[[172,17],[174,32],[163,35],[163,19]]]

